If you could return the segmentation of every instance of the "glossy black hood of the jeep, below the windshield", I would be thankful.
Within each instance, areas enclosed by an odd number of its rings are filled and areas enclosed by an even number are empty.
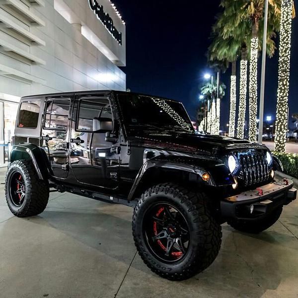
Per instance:
[[[188,151],[199,154],[225,154],[234,150],[267,149],[266,146],[246,140],[203,134],[148,134],[129,138],[135,145],[147,148]]]

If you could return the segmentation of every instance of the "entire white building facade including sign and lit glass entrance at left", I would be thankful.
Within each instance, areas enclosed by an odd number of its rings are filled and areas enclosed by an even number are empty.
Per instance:
[[[126,89],[125,23],[110,0],[0,1],[0,165],[21,96]]]

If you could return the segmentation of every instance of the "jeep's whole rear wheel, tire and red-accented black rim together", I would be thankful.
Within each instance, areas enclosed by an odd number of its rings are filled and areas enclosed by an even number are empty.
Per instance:
[[[16,160],[10,164],[6,173],[5,197],[15,216],[35,216],[47,207],[49,185],[38,179],[30,160]]]

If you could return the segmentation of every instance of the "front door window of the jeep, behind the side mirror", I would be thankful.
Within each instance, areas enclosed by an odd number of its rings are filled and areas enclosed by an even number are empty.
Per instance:
[[[94,118],[109,118],[113,120],[111,105],[107,98],[80,99],[76,130],[92,132]]]

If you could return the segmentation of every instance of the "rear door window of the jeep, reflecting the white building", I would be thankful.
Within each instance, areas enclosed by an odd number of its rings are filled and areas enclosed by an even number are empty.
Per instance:
[[[70,99],[48,100],[44,128],[51,130],[67,130]]]

